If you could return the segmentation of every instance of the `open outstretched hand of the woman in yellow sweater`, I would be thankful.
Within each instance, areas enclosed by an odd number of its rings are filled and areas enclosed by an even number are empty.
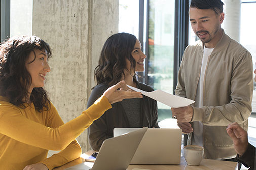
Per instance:
[[[108,99],[109,103],[113,104],[119,101],[122,101],[126,98],[142,98],[141,92],[131,92],[131,90],[124,91],[122,89],[117,90],[125,85],[125,81],[122,80],[116,85],[109,87],[105,92],[104,96]]]

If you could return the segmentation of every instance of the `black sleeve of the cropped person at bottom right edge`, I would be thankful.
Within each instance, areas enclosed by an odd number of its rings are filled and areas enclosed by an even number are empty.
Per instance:
[[[248,144],[248,148],[245,153],[241,157],[236,157],[236,160],[242,163],[246,167],[250,167],[250,169],[254,169],[255,167],[255,147],[251,144]]]

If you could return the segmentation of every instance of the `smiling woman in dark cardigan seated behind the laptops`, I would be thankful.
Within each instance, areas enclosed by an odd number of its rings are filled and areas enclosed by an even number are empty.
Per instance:
[[[136,78],[135,72],[144,71],[145,58],[141,44],[134,35],[118,33],[110,36],[101,50],[99,63],[95,68],[97,85],[92,90],[87,108],[107,88],[121,80],[141,90],[153,91],[152,87],[138,82]],[[128,87],[123,89],[127,90]],[[105,139],[113,137],[113,129],[116,127],[159,128],[157,119],[157,101],[147,96],[117,102],[88,128],[90,145],[98,151]]]

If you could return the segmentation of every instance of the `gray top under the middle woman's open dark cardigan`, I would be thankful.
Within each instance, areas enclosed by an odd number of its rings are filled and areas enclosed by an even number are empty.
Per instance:
[[[127,115],[130,128],[140,128],[140,98],[124,99],[121,104]]]

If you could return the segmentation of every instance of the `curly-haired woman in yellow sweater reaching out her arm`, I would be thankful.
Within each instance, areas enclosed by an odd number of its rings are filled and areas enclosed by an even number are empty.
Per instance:
[[[44,90],[51,50],[36,36],[16,36],[0,46],[0,169],[53,169],[81,155],[76,141],[111,104],[140,93],[107,89],[80,116],[63,123]],[[48,150],[61,150],[46,158]]]

